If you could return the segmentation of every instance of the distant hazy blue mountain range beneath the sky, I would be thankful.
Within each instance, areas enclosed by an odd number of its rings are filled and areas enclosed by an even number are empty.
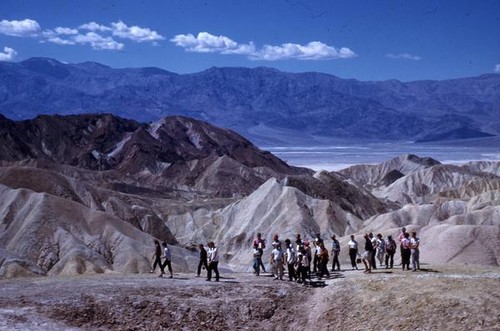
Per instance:
[[[101,112],[142,122],[189,116],[254,143],[479,138],[500,134],[500,75],[361,82],[265,67],[180,75],[47,58],[0,63],[0,113],[8,118]]]

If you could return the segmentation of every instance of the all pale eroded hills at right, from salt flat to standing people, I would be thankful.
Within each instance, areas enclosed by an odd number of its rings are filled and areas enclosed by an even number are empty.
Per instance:
[[[402,206],[367,219],[359,236],[380,232],[394,237],[405,226],[419,234],[423,260],[500,265],[499,164],[443,165],[405,155],[343,170],[375,196]],[[386,180],[388,174],[394,180]]]

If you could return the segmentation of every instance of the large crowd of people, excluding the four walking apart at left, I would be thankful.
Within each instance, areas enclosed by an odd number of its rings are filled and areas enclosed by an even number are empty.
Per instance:
[[[385,266],[387,269],[392,269],[394,267],[394,255],[397,250],[397,243],[392,236],[384,239],[382,234],[379,233],[374,236],[370,232],[364,238],[365,247],[362,254],[354,235],[351,235],[347,244],[352,269],[358,270],[357,263],[363,262],[365,266],[364,272],[371,273],[372,269],[377,269],[377,261],[379,267]],[[331,236],[331,240],[332,265],[330,270],[340,271],[340,243],[335,235]],[[412,232],[410,235],[406,231],[406,228],[403,228],[398,241],[401,249],[401,265],[403,270],[410,270],[410,260],[412,270],[419,270],[420,239],[417,237],[417,233]],[[311,280],[311,274],[315,274],[319,279],[324,276],[330,276],[328,270],[330,261],[329,250],[326,248],[325,242],[319,233],[316,234],[312,245],[308,240],[302,240],[300,234],[296,235],[295,243],[292,243],[290,239],[286,239],[284,245],[282,245],[279,236],[274,235],[272,247],[270,264],[274,279],[282,280],[285,269],[288,271],[290,281],[297,281],[304,284],[306,284],[306,279]],[[258,233],[257,238],[253,241],[253,269],[254,274],[257,276],[259,276],[261,269],[263,272],[266,271],[262,262],[264,248],[266,248],[265,240],[262,238],[262,234]]]

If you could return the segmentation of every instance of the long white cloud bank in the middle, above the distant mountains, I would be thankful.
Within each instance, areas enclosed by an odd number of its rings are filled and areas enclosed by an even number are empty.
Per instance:
[[[240,54],[248,56],[251,60],[320,60],[356,56],[349,48],[336,49],[319,41],[312,41],[307,45],[292,43],[280,46],[264,45],[261,49],[256,49],[252,42],[240,44],[228,37],[214,36],[208,32],[200,32],[196,37],[192,34],[179,34],[170,41],[188,52]]]

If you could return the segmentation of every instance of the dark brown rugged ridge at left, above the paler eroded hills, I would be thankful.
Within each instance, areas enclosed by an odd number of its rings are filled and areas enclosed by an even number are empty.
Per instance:
[[[112,184],[128,192],[192,189],[248,194],[270,177],[311,173],[290,167],[230,130],[174,116],[150,125],[113,115],[0,118],[0,159],[36,159],[83,169],[114,170],[139,180]]]

